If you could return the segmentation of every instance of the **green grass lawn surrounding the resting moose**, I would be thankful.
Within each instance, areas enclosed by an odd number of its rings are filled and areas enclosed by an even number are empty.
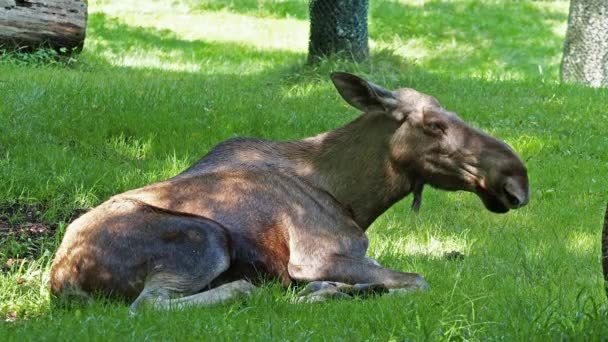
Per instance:
[[[371,1],[371,61],[314,67],[305,0],[89,5],[73,60],[0,56],[0,208],[37,205],[58,232],[0,235],[2,264],[27,257],[0,274],[0,317],[17,317],[0,323],[2,340],[608,336],[608,91],[558,82],[567,2]],[[430,93],[506,140],[527,162],[530,205],[495,215],[472,194],[427,190],[419,215],[407,198],[381,216],[369,255],[425,275],[426,294],[295,305],[269,283],[243,303],[137,317],[124,303],[51,304],[48,267],[74,210],[172,176],[235,135],[296,139],[345,124],[357,113],[333,70]],[[451,250],[464,260],[446,260]]]

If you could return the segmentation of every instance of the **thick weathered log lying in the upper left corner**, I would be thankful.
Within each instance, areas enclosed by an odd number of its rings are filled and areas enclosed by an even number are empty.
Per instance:
[[[83,0],[0,0],[0,49],[82,48]]]

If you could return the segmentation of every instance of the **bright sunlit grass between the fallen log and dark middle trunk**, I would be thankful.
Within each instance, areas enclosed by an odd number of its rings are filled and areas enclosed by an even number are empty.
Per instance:
[[[284,54],[267,61],[256,58],[255,51],[304,53],[308,44],[308,23],[294,18],[197,12],[186,4],[162,1],[99,1],[91,9],[90,30],[97,34],[90,36],[86,48],[115,66],[254,73],[285,62]]]

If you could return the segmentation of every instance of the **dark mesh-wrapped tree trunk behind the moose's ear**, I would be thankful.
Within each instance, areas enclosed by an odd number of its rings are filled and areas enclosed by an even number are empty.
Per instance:
[[[369,55],[368,0],[311,0],[308,62],[340,55],[354,61]]]

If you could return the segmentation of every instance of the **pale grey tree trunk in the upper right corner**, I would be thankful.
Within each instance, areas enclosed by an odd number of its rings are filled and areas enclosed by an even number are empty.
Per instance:
[[[608,85],[608,1],[571,0],[561,78]]]

